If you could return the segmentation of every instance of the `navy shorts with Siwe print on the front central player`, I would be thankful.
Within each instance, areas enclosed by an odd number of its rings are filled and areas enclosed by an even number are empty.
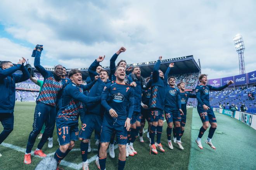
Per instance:
[[[127,130],[125,127],[125,121],[112,121],[103,118],[102,128],[100,133],[100,142],[109,143],[112,133],[116,131],[116,139],[119,145],[126,145],[127,143]]]

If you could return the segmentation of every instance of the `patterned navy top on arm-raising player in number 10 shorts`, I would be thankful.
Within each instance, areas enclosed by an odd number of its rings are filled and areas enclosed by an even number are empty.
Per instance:
[[[159,76],[161,60],[157,60],[152,74],[150,108],[164,109],[165,87],[164,78]],[[167,77],[166,77],[167,79]]]

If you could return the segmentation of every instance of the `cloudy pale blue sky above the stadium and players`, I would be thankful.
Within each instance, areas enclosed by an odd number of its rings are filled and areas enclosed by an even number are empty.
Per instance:
[[[41,64],[87,68],[99,55],[103,66],[119,47],[128,63],[194,55],[209,78],[239,74],[232,38],[245,43],[246,72],[256,70],[256,1],[68,1],[0,2],[0,60],[31,58],[43,44]],[[15,5],[14,5],[15,4]]]

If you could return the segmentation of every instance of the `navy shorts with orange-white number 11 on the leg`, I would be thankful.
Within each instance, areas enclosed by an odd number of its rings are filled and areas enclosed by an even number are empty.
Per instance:
[[[78,120],[71,121],[62,118],[57,118],[56,128],[60,145],[66,145],[70,143],[70,141],[78,140]]]

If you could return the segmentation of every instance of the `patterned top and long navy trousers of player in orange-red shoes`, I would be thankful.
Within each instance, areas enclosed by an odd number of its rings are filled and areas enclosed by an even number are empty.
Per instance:
[[[37,146],[39,150],[43,148],[48,136],[52,133],[55,126],[57,94],[63,88],[61,78],[40,65],[40,56],[41,52],[36,50],[34,66],[42,74],[44,80],[41,92],[36,99],[33,130],[29,134],[26,153],[31,153],[36,136],[40,133],[44,123],[45,131]]]

